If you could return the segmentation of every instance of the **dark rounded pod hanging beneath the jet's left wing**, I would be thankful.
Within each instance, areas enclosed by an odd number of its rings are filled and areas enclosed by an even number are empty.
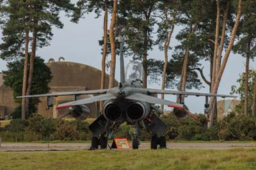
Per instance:
[[[86,105],[76,105],[71,107],[70,114],[76,120],[86,120],[90,114],[90,109]]]

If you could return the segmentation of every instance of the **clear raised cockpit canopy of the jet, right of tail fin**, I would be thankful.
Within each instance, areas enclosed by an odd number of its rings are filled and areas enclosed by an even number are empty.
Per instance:
[[[143,81],[143,65],[138,61],[131,61],[125,68],[125,80]]]

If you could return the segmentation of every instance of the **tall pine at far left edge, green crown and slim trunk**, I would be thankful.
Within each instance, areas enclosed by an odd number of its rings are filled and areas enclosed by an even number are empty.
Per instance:
[[[31,26],[30,7],[26,1],[6,1],[1,8],[4,17],[3,42],[0,45],[1,58],[13,59],[25,50],[22,95],[26,95],[28,74],[29,27]],[[18,21],[18,22],[17,22]],[[25,34],[24,34],[25,33]],[[26,98],[22,98],[22,119],[25,118]]]

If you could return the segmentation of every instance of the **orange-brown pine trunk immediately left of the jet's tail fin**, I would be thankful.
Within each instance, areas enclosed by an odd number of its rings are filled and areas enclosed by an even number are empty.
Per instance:
[[[110,68],[110,73],[109,73],[108,88],[113,88],[114,81],[115,81],[116,46],[115,46],[114,27],[115,27],[115,22],[116,22],[117,1],[118,0],[114,0],[111,23],[109,26],[109,42],[110,42],[110,46],[111,46],[111,68]]]

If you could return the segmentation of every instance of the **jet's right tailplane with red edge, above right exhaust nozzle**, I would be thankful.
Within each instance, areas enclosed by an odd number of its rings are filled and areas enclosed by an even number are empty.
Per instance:
[[[149,95],[143,95],[141,93],[134,93],[132,95],[129,95],[128,97],[125,97],[130,100],[136,100],[136,101],[142,101],[142,102],[148,102],[150,104],[163,104],[163,105],[172,105],[173,107],[183,109],[183,104],[178,104],[176,102],[171,102],[168,100],[163,100],[161,98],[152,97]]]

